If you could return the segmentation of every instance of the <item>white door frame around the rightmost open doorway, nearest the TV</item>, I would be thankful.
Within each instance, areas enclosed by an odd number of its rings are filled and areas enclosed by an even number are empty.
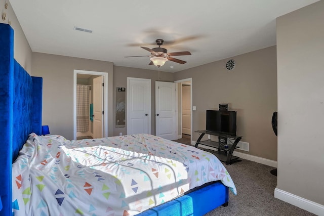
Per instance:
[[[176,80],[174,82],[176,83],[182,83],[182,82],[188,82],[190,81],[190,107],[191,107],[191,116],[190,116],[190,131],[191,131],[191,136],[190,136],[190,143],[192,143],[192,78],[186,78],[186,79],[180,79],[180,80]],[[177,84],[177,88],[178,88],[178,84]],[[177,89],[177,91],[180,92],[180,98],[178,98],[177,94],[177,137],[178,139],[182,138],[182,109],[179,109],[178,104],[179,104],[179,100],[182,106],[182,88]],[[178,119],[181,119],[181,121],[179,122]]]

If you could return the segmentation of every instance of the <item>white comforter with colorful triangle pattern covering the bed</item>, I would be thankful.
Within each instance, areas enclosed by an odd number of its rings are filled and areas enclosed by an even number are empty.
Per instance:
[[[13,212],[135,215],[217,180],[236,194],[213,154],[153,135],[69,141],[31,134],[13,163]]]

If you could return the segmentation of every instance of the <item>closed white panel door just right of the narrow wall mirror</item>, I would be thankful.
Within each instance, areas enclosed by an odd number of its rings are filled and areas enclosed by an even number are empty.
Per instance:
[[[151,133],[151,80],[127,78],[127,134]]]

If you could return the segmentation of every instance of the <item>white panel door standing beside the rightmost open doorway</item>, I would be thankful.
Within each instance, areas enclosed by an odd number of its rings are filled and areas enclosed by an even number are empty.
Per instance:
[[[176,83],[156,81],[155,135],[176,140],[176,123]]]

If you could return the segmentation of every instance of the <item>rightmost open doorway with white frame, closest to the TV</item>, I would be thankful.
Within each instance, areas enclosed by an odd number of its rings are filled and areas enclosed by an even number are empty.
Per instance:
[[[175,81],[178,83],[178,140],[192,143],[192,78]]]

